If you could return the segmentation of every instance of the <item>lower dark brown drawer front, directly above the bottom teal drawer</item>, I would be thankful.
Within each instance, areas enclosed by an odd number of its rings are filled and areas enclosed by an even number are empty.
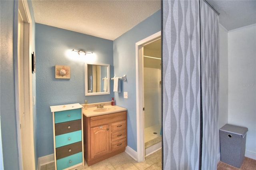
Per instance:
[[[82,152],[82,141],[56,148],[56,159]]]

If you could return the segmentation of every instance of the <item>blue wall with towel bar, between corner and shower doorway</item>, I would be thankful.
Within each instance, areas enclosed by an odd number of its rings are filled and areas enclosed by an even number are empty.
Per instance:
[[[122,93],[115,93],[116,105],[128,109],[128,146],[137,151],[137,125],[136,125],[136,54],[135,43],[161,31],[161,11],[152,16],[114,40],[114,75],[120,77],[124,74],[127,81],[121,81]],[[128,92],[128,99],[124,99],[124,91]]]

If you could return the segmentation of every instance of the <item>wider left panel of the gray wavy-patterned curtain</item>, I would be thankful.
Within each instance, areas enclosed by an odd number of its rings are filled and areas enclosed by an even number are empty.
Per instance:
[[[163,1],[164,169],[198,170],[200,147],[199,1]]]

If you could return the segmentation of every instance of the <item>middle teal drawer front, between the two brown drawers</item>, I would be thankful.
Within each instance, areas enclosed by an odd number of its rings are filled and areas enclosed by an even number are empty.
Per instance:
[[[82,140],[82,130],[55,136],[56,148]]]

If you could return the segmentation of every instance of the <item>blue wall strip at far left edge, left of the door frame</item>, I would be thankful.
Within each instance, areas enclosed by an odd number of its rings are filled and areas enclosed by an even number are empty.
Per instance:
[[[5,170],[19,169],[14,87],[14,1],[0,1],[0,116]]]

